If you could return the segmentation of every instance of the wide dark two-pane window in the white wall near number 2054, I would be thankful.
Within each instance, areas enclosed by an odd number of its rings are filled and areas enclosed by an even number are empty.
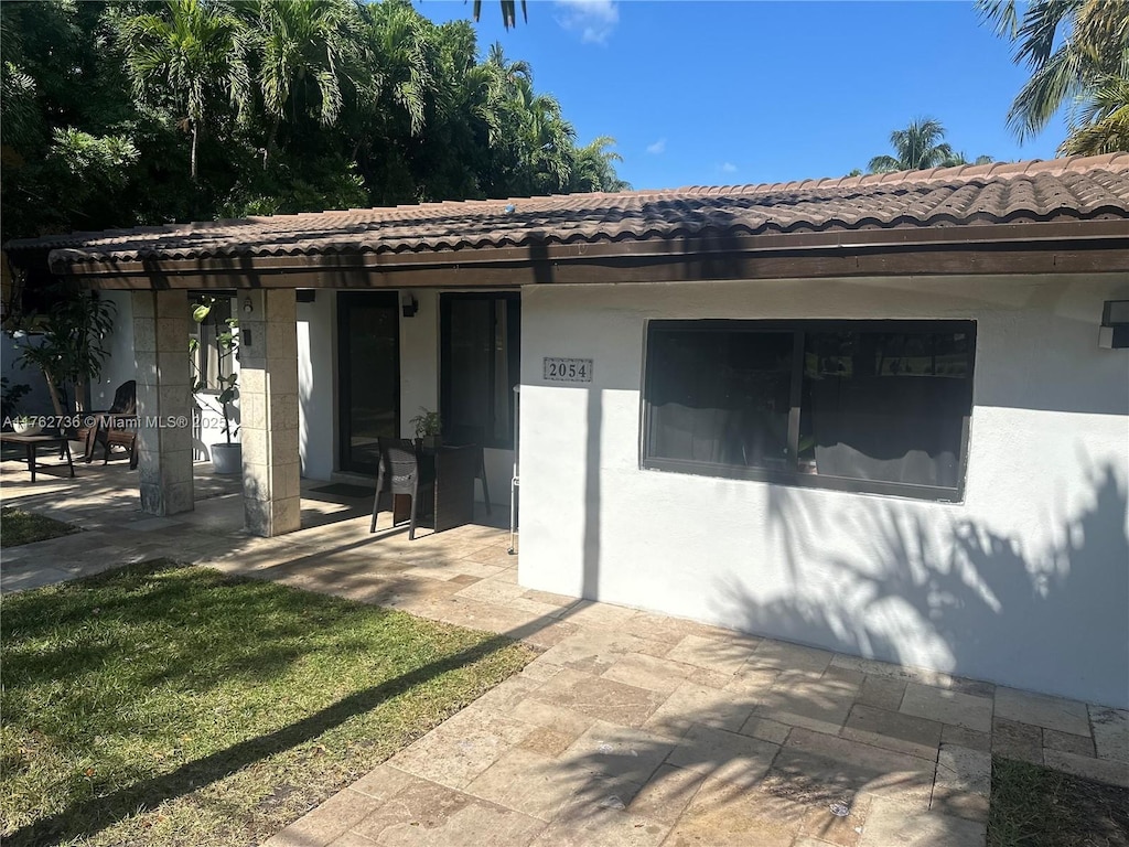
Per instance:
[[[645,468],[959,499],[971,321],[654,321]]]

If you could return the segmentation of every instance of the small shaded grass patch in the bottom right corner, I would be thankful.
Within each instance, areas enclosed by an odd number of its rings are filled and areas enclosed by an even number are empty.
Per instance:
[[[1129,789],[994,757],[988,847],[1129,847]]]

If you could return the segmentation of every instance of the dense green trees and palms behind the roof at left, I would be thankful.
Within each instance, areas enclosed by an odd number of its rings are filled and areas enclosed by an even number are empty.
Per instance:
[[[410,0],[15,0],[0,35],[5,239],[629,187],[526,62]]]

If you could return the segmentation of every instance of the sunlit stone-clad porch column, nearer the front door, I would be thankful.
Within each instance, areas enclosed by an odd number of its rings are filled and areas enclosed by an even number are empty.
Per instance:
[[[240,291],[236,307],[244,514],[248,532],[281,535],[301,524],[295,292]]]

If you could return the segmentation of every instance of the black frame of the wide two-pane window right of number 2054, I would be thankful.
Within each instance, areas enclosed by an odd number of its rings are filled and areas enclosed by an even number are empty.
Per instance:
[[[798,469],[777,470],[767,468],[749,468],[716,462],[702,462],[679,459],[663,459],[649,455],[651,438],[651,402],[655,391],[655,370],[650,367],[651,343],[656,334],[664,332],[790,332],[793,333],[793,369],[788,412],[788,455],[793,463],[798,457],[799,419],[803,413],[802,399],[804,385],[804,344],[809,332],[885,332],[885,333],[921,333],[935,334],[945,332],[964,332],[969,335],[971,346],[969,353],[969,409],[961,416],[961,447],[957,466],[957,483],[955,488],[944,486],[925,486],[909,482],[891,482],[886,480],[866,480],[854,477],[834,477],[830,474],[805,473]],[[656,318],[647,322],[644,333],[644,374],[641,391],[641,431],[639,438],[639,468],[647,471],[666,471],[699,477],[716,477],[719,479],[752,480],[797,488],[819,488],[854,494],[876,494],[894,497],[909,497],[939,503],[962,503],[969,461],[969,431],[972,409],[975,405],[975,358],[977,358],[977,322],[974,320],[874,320],[874,318],[795,318],[795,320],[666,320]]]

